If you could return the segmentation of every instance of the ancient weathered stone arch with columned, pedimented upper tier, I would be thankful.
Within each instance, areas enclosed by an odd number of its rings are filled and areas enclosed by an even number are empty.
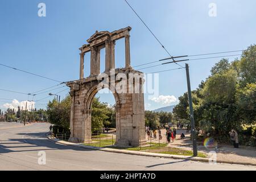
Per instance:
[[[71,142],[91,140],[92,101],[102,88],[115,98],[117,146],[139,146],[146,142],[143,73],[130,66],[131,27],[117,31],[96,31],[80,48],[80,79],[67,82],[71,88]],[[115,68],[115,40],[125,38],[125,68]],[[105,72],[100,73],[100,49],[105,48]],[[90,76],[84,78],[85,53],[90,52]]]

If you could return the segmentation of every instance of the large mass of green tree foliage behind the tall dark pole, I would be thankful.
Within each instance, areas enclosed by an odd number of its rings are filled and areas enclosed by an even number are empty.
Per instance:
[[[210,72],[205,82],[192,91],[195,124],[225,140],[231,129],[242,133],[243,124],[253,126],[256,122],[256,46],[247,48],[240,60],[220,60]],[[174,108],[175,117],[189,119],[187,93],[179,101]]]

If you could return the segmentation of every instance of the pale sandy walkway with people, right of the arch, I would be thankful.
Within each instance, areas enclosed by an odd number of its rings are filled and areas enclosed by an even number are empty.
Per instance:
[[[161,130],[163,139],[159,141],[158,134],[156,139],[152,139],[151,142],[166,143],[166,130]],[[185,134],[185,139],[180,139],[180,134]],[[183,150],[192,150],[192,143],[190,139],[190,133],[186,133],[186,130],[177,130],[176,139],[174,143],[168,143],[168,146],[180,148]],[[197,143],[197,150],[204,154],[210,151],[215,151],[217,153],[217,160],[225,160],[229,162],[244,162],[256,164],[256,147],[246,147],[240,146],[240,148],[233,148],[226,144],[217,144],[212,148],[206,148],[203,144]]]

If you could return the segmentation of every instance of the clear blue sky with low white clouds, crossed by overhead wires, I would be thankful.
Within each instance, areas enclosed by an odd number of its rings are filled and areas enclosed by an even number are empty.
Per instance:
[[[256,41],[254,0],[127,1],[172,56],[242,50]],[[46,5],[46,16],[38,16],[39,3]],[[216,5],[214,16],[209,15],[209,11],[213,10],[213,7],[209,6],[211,3]],[[169,57],[123,0],[2,0],[0,22],[0,63],[58,81],[79,79],[79,47],[86,44],[86,40],[96,30],[111,32],[127,26],[132,27],[132,66]],[[104,52],[101,52],[101,55],[104,55]],[[86,54],[85,76],[89,75],[88,57]],[[236,57],[239,56],[229,57],[229,60],[232,61]],[[192,89],[196,89],[201,80],[210,75],[210,68],[220,59],[187,61]],[[184,66],[185,63],[180,64]],[[104,64],[101,64],[101,71],[102,65]],[[117,68],[125,66],[123,39],[118,40],[115,46],[115,65]],[[151,73],[178,67],[176,64],[167,64],[140,71]],[[177,98],[187,91],[185,69],[162,72],[154,76],[158,78],[155,82],[155,95],[144,94],[147,110],[175,105],[178,103]],[[32,93],[59,84],[1,65],[0,77],[0,89],[23,93]],[[68,95],[67,87],[59,85],[55,88],[58,89],[50,92],[59,94],[61,99]],[[24,106],[24,101],[27,100],[35,101],[29,102],[30,107],[33,104],[36,108],[45,108],[47,102],[53,98],[48,96],[48,93],[28,97],[26,94],[0,90],[0,109]],[[111,93],[97,96],[100,96],[103,102],[112,105],[115,102]]]

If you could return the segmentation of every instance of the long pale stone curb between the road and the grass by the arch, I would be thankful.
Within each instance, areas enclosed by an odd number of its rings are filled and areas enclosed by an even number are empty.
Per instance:
[[[85,145],[79,144],[79,143],[65,142],[63,140],[53,138],[49,135],[47,136],[47,138],[55,143],[65,144],[67,146],[73,146],[73,147],[79,147],[79,148],[86,148],[89,150],[100,150],[100,151],[114,152],[114,153],[120,153],[120,154],[141,155],[141,156],[150,156],[150,157],[158,157],[158,158],[168,158],[168,159],[192,160],[192,161],[196,161],[196,162],[207,162],[207,163],[209,162],[208,158],[200,158],[200,157],[185,156],[185,155],[157,154],[157,153],[142,152],[142,151],[119,150],[119,149],[115,149],[115,148],[93,147],[93,146],[85,146]],[[225,161],[225,160],[217,160],[217,163],[256,166],[256,164],[253,164],[253,163],[229,162],[229,161]]]

